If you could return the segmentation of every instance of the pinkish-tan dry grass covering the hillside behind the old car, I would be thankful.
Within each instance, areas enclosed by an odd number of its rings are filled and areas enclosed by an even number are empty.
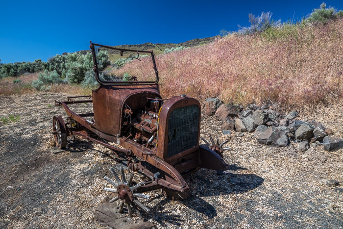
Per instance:
[[[261,34],[229,35],[205,46],[157,56],[162,95],[220,97],[241,104],[270,100],[287,106],[342,100],[343,20],[299,25],[280,34],[273,39]],[[153,74],[145,60],[113,71],[125,72],[140,80]]]

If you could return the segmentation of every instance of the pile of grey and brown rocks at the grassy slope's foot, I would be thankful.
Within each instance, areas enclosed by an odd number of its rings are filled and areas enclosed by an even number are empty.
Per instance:
[[[259,107],[250,104],[242,106],[225,104],[216,98],[206,99],[203,114],[215,115],[223,121],[222,128],[227,131],[254,132],[259,143],[274,147],[284,147],[291,141],[298,142],[298,150],[307,151],[311,145],[324,145],[324,150],[335,151],[343,148],[341,138],[329,136],[332,130],[323,124],[297,120],[298,112],[283,114],[273,106]]]

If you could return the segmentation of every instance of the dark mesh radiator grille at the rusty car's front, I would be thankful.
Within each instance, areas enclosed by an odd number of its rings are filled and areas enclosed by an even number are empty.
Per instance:
[[[179,107],[172,111],[168,125],[168,157],[197,145],[199,115],[197,105]]]

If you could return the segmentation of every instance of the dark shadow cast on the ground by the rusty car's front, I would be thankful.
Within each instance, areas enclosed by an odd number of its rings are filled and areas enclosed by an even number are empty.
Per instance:
[[[237,172],[246,170],[246,168],[231,165],[230,170]],[[188,200],[181,201],[181,203],[184,204],[185,207],[191,208],[209,219],[213,219],[217,216],[217,210],[212,204],[205,200],[207,197],[245,193],[256,189],[263,182],[263,178],[254,174],[224,173],[223,175],[217,175],[213,170],[200,170],[187,179],[187,183],[190,184],[191,188],[191,196]],[[163,196],[158,196],[156,198],[162,198],[162,200],[152,209],[152,212],[155,213],[151,216],[147,215],[147,217],[153,218],[161,224],[162,227],[167,227],[166,222],[172,222],[175,226],[180,227],[183,222],[183,220],[180,219],[180,215],[165,209],[165,205],[172,202],[172,200],[164,198]],[[213,200],[216,201],[216,199],[217,198],[214,198]],[[182,210],[180,209],[180,211]],[[195,215],[195,217],[197,216]]]

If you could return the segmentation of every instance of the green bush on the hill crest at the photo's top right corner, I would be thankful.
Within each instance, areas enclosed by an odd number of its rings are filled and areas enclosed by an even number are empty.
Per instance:
[[[310,23],[327,24],[330,20],[337,19],[343,16],[343,11],[337,11],[334,7],[326,8],[325,2],[320,4],[318,9],[314,9],[310,16],[306,19]]]

